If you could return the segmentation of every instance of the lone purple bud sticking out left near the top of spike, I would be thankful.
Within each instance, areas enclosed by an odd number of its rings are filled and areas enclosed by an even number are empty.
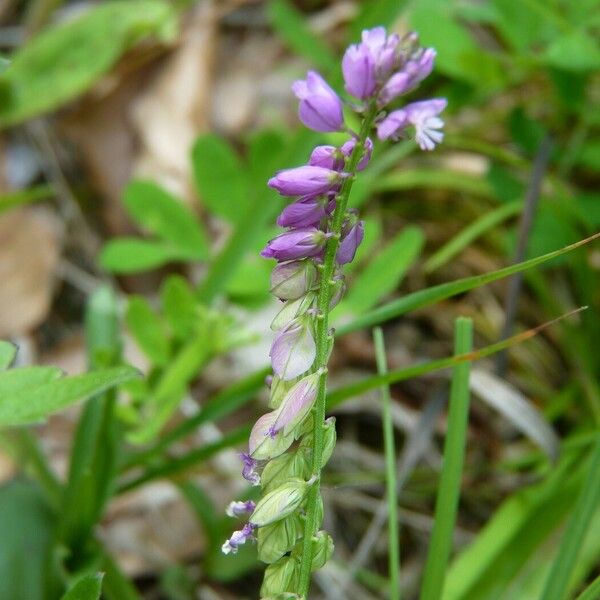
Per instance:
[[[342,101],[327,82],[315,71],[309,71],[305,80],[292,85],[300,100],[298,116],[315,131],[339,131],[344,125]]]

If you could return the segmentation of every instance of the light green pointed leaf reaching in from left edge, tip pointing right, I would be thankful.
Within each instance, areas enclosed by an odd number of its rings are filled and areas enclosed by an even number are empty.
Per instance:
[[[131,367],[114,367],[27,387],[8,396],[3,395],[0,398],[0,426],[39,422],[75,402],[137,377],[138,371]]]

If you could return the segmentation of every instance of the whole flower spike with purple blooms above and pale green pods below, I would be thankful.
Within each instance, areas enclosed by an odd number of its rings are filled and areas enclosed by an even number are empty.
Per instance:
[[[227,514],[247,522],[223,544],[227,554],[257,541],[258,556],[268,564],[263,598],[306,597],[311,572],[333,553],[333,540],[321,529],[319,489],[336,441],[335,420],[325,418],[333,346],[329,313],[345,291],[343,266],[352,262],[364,235],[364,223],[348,208],[348,198],[371,158],[373,129],[380,140],[412,136],[422,150],[442,141],[444,98],[388,110],[431,73],[434,59],[435,50],[420,47],[416,34],[388,35],[375,27],[363,31],[361,42],[342,60],[351,100],[344,103],[314,71],[292,86],[304,125],[346,132],[349,139],[339,147],[317,146],[307,165],[280,171],[268,182],[295,200],[277,219],[286,230],[261,253],[277,261],[271,291],[283,302],[271,325],[271,411],[258,419],[248,452],[241,455],[243,476],[261,486],[262,496],[256,503],[230,504]],[[344,105],[358,116],[358,132],[345,125]]]

